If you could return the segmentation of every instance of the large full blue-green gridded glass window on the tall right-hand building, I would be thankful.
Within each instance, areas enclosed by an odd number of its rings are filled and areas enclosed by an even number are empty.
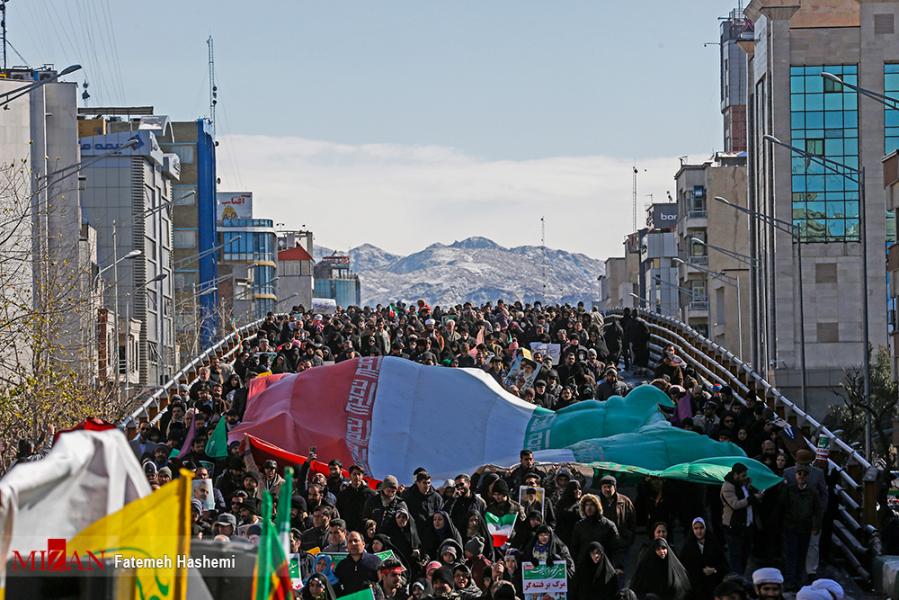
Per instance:
[[[825,71],[846,83],[858,83],[857,65],[790,67],[791,139],[809,154],[857,169],[858,94],[821,77]],[[858,241],[858,183],[796,153],[791,173],[793,223],[802,240]]]

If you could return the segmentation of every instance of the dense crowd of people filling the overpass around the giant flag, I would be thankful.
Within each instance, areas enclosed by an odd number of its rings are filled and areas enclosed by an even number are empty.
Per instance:
[[[247,470],[236,442],[225,459],[204,449],[220,419],[229,429],[240,423],[254,377],[396,356],[483,369],[525,401],[559,409],[626,398],[623,366],[671,397],[674,426],[733,442],[783,482],[756,490],[742,463],[720,486],[612,473],[585,478],[571,465],[535,464],[523,449],[510,469],[432,481],[423,465],[397,474],[410,485],[391,475],[374,490],[358,465],[331,460],[325,475],[310,472],[307,461],[297,468],[290,506],[276,506],[290,511],[291,551],[306,566],[300,597],[337,598],[371,586],[385,599],[522,598],[529,564],[564,564],[567,597],[577,600],[775,599],[785,592],[841,600],[838,584],[817,578],[836,507],[826,461],[798,448],[761,402],[744,404],[727,386],[704,383],[674,347],[650,365],[648,342],[638,314],[604,318],[583,304],[432,309],[418,301],[333,315],[294,307],[269,315],[232,364],[213,359],[201,369],[156,425],[139,425],[131,444],[153,486],[182,467],[213,482],[213,508],[208,492],[193,502],[195,536],[253,543],[261,492],[277,498],[284,481],[278,464]],[[522,363],[527,376],[510,377]],[[191,427],[190,448],[173,458]],[[314,449],[289,450],[317,458]],[[511,534],[497,545],[488,522],[510,515]]]

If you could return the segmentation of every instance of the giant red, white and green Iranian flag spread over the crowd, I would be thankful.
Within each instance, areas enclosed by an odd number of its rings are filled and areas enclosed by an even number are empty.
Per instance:
[[[251,435],[293,454],[315,447],[322,460],[359,464],[375,479],[408,483],[422,465],[435,481],[448,479],[486,464],[514,465],[528,448],[546,462],[663,473],[679,466],[690,481],[720,485],[721,470],[696,476],[691,464],[748,460],[731,442],[672,427],[659,405],[674,405],[651,385],[554,412],[513,396],[480,369],[377,356],[257,377],[249,387],[243,423],[229,441]],[[766,485],[774,485],[778,478],[769,475]]]

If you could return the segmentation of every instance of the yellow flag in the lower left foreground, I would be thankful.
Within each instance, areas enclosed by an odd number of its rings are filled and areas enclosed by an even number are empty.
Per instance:
[[[104,556],[132,571],[134,585],[119,598],[185,600],[187,568],[178,558],[190,556],[192,478],[182,469],[178,479],[81,530],[67,552]]]

